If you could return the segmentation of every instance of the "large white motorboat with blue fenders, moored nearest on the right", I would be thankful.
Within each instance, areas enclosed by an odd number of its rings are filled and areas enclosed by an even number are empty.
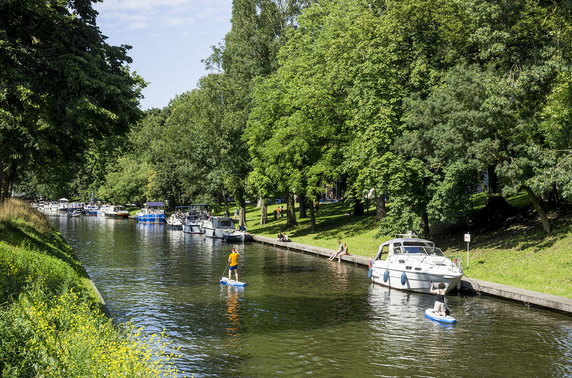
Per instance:
[[[429,293],[431,282],[443,282],[449,291],[463,270],[430,240],[412,234],[391,239],[379,246],[372,263],[373,282],[394,289]]]

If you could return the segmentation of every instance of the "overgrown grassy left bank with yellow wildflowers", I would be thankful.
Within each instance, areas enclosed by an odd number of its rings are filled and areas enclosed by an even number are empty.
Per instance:
[[[42,214],[0,206],[0,375],[160,376],[156,337],[107,318],[80,262]]]

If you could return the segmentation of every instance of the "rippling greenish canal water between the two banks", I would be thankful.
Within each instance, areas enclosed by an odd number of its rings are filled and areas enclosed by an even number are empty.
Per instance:
[[[372,286],[363,267],[250,243],[246,288],[218,283],[232,245],[100,217],[53,217],[112,315],[180,347],[186,376],[571,376],[572,317],[489,296]],[[332,246],[333,247],[333,246]]]

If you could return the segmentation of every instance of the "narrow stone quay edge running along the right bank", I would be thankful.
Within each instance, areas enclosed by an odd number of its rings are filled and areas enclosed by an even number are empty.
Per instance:
[[[254,240],[259,243],[286,248],[288,250],[297,252],[311,253],[325,257],[330,257],[331,254],[335,252],[334,250],[328,248],[314,247],[311,245],[296,242],[279,242],[274,238],[269,238],[266,236],[253,235],[253,237]],[[370,260],[368,257],[358,255],[342,255],[341,259],[343,261],[354,263],[356,265],[363,265],[365,267],[368,266]],[[484,293],[496,297],[523,302],[525,305],[541,306],[572,314],[572,299],[570,298],[539,293],[532,290],[519,289],[516,287],[497,284],[494,282],[481,281],[468,277],[462,278],[461,288],[464,290],[475,291],[477,293]]]

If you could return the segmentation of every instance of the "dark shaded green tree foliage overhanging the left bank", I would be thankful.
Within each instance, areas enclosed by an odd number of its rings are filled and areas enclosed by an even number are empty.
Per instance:
[[[70,167],[141,115],[129,47],[105,42],[91,3],[0,2],[0,199],[24,172]]]

